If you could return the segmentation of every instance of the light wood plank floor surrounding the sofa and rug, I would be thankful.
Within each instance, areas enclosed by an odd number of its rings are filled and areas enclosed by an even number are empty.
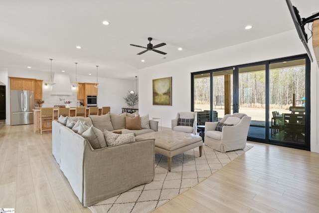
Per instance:
[[[319,212],[319,154],[253,145],[155,213]],[[0,123],[0,208],[88,213],[51,154],[51,133]]]

